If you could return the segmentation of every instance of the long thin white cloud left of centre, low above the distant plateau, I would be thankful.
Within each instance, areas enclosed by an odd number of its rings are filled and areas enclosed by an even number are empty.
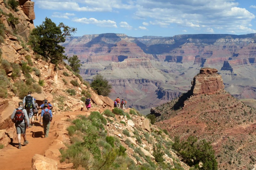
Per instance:
[[[113,27],[117,28],[116,22],[111,20],[97,20],[95,18],[77,18],[73,19],[74,22],[83,23],[83,24],[95,24],[100,27]]]

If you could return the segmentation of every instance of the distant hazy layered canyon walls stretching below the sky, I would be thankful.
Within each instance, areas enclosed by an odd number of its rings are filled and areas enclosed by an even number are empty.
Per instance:
[[[122,95],[129,101],[130,106],[143,109],[157,106],[188,91],[190,88],[188,82],[201,67],[217,68],[225,81],[226,90],[236,95],[237,98],[255,99],[254,39],[255,34],[129,37],[124,34],[106,33],[71,37],[63,43],[63,46],[66,47],[67,55],[75,54],[83,62],[81,70],[83,78],[91,80],[93,75],[101,73],[113,82],[111,98]],[[124,67],[127,62],[131,61],[129,60],[131,58],[150,60],[150,63],[147,62],[148,65],[144,66],[146,68],[154,66],[151,74],[157,76],[154,78],[145,75],[143,78],[148,79],[147,82],[132,83],[129,85],[129,90],[125,90],[123,83],[116,84],[116,82],[132,82],[133,79],[139,79],[141,82],[143,79],[138,76],[141,70],[133,70],[129,66]],[[133,62],[136,64],[139,61],[133,60]],[[115,71],[109,72],[109,67]],[[129,73],[129,76],[123,75],[123,72]],[[160,78],[161,81],[158,81]],[[149,81],[158,83],[149,84]],[[144,91],[140,92],[141,86],[148,87],[146,95]],[[134,95],[133,92],[138,93]],[[140,98],[139,96],[145,97],[133,100],[133,97]],[[149,100],[153,96],[157,98],[154,102]]]

